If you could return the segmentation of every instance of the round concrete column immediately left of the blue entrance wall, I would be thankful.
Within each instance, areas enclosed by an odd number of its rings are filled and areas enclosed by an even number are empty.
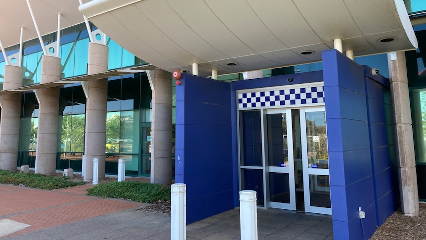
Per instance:
[[[171,73],[154,71],[151,125],[151,183],[171,184]]]

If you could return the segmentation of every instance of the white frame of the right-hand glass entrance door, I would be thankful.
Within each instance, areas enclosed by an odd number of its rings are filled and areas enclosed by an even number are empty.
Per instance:
[[[325,106],[300,108],[299,111],[300,111],[300,130],[301,130],[300,133],[301,133],[303,186],[304,186],[303,194],[304,194],[305,212],[331,215],[332,214],[331,208],[318,207],[318,206],[311,205],[309,175],[323,175],[323,176],[330,177],[330,170],[321,169],[321,168],[309,168],[307,133],[306,133],[306,112],[325,112]],[[324,190],[328,190],[328,192],[330,192],[330,188],[324,189]]]

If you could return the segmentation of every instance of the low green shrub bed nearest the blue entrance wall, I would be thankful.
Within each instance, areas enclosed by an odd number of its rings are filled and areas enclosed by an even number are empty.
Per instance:
[[[152,203],[158,200],[170,200],[170,187],[136,181],[112,182],[87,189],[87,195]]]

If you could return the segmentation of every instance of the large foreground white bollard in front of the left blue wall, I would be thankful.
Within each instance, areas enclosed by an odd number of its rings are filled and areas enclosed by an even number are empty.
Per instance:
[[[171,185],[171,240],[186,239],[186,184]]]

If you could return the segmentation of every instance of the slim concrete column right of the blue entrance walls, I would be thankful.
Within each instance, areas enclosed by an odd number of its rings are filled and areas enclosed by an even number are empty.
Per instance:
[[[396,123],[401,207],[404,215],[417,216],[419,215],[419,194],[405,52],[391,53],[388,56],[390,56],[391,67],[390,90]]]

